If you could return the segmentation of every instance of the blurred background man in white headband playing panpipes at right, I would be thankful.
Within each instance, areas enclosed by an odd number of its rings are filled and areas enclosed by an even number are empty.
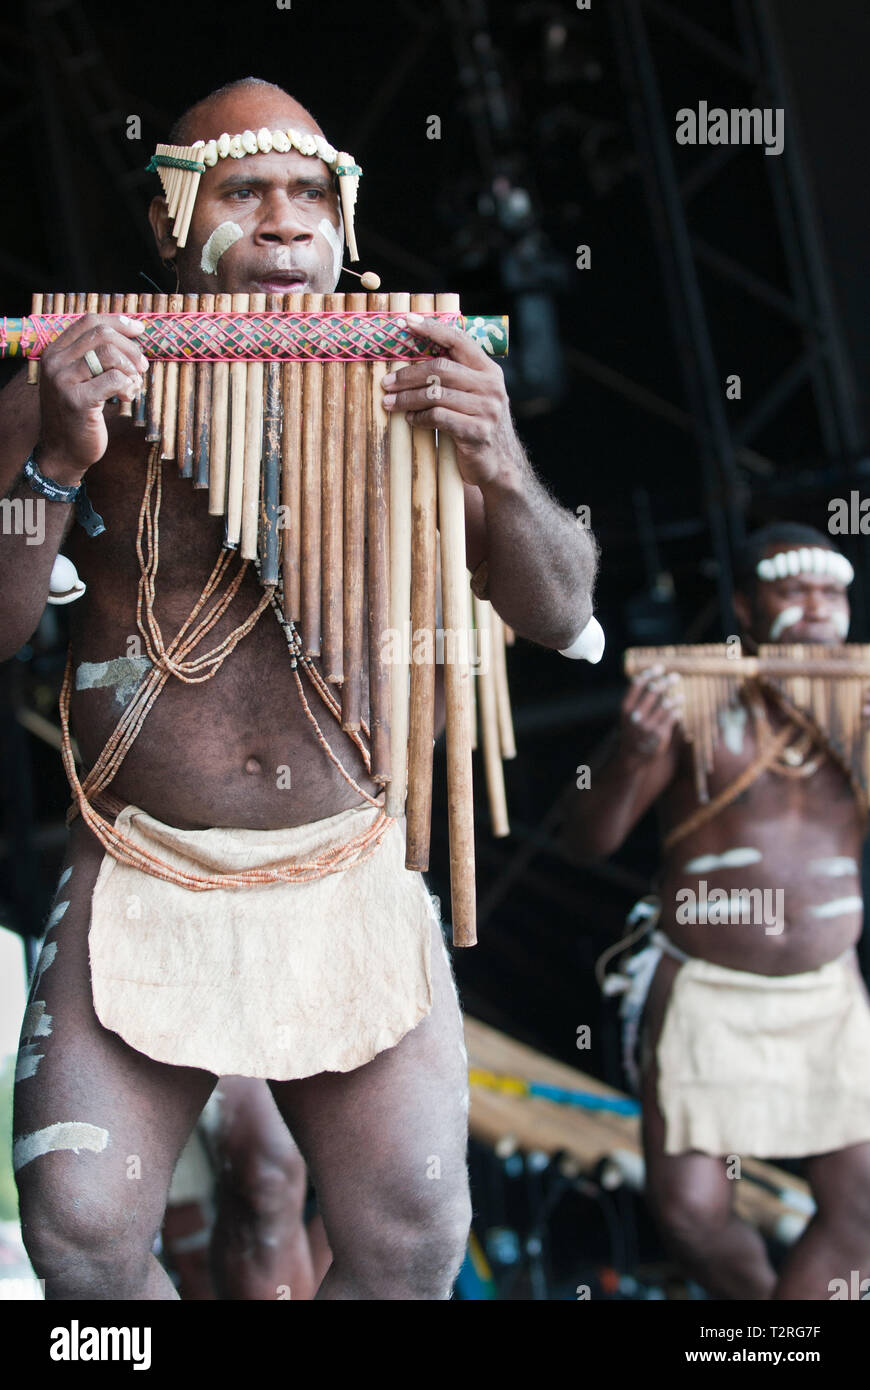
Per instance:
[[[756,532],[737,566],[746,651],[844,642],[849,581],[828,537],[785,523]],[[831,746],[755,681],[719,710],[699,805],[675,680],[659,666],[631,682],[566,828],[582,855],[603,856],[653,803],[660,816],[657,930],[623,981],[646,1193],[714,1297],[828,1298],[832,1279],[870,1275],[870,1009],[855,955],[864,809]],[[727,894],[716,908],[714,888]],[[739,1155],[806,1158],[817,1212],[778,1276],[734,1212]]]

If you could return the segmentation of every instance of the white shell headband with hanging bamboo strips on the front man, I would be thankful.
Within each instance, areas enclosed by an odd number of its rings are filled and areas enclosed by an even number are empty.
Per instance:
[[[353,228],[353,210],[363,170],[356,163],[353,154],[346,150],[336,150],[322,135],[313,135],[310,131],[297,131],[295,126],[270,131],[265,125],[260,131],[242,131],[240,135],[218,135],[215,140],[195,140],[193,145],[158,145],[147,165],[150,174],[158,174],[163,192],[172,218],[172,235],[179,247],[188,240],[193,204],[199,190],[200,177],[218,160],[240,160],[246,154],[268,154],[278,150],[285,154],[288,150],[299,150],[300,154],[310,154],[321,158],[338,178],[338,190],[342,203],[342,218],[345,221],[345,239],[350,260],[359,261],[360,254],[356,245]]]

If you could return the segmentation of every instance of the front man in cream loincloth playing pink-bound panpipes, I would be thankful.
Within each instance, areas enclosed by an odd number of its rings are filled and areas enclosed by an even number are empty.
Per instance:
[[[172,140],[286,128],[321,136],[285,92],[246,79],[193,107]],[[182,252],[164,199],[150,215],[183,292],[335,286],[342,215],[315,153],[220,158],[202,177]],[[453,327],[416,328],[442,348],[443,393],[432,404],[432,363],[418,363],[388,378],[385,406],[454,439],[468,564],[488,562],[488,596],[504,621],[570,648],[591,619],[593,542],[535,480],[499,368]],[[149,678],[145,632],[182,671],[135,742],[125,735],[101,801],[100,833],[110,837],[117,816],[122,849],[103,853],[81,799],[72,821],[22,1030],[14,1165],[25,1243],[47,1298],[174,1297],[151,1244],[175,1159],[215,1076],[264,1076],[309,1163],[334,1252],[320,1297],[446,1298],[470,1215],[467,1062],[432,901],[403,866],[400,823],[367,840],[381,788],[336,724],[324,721],[322,742],[315,734],[272,614],[249,623],[263,598],[250,567],[199,649],[235,634],[225,663],[196,669],[199,651],[182,660],[171,648],[222,539],[222,521],[204,514],[175,464],[163,468],[156,596],[138,616],[146,449],[129,420],[104,411],[110,398],[140,391],[136,336],[132,321],[88,316],[44,352],[39,388],[19,377],[3,400],[0,489],[32,496],[22,467],[35,449],[38,474],[54,485],[86,475],[106,534],[71,530],[71,506],[47,500],[44,545],[3,538],[0,655],[33,631],[68,534],[88,589],[71,609],[83,767],[93,770]],[[203,670],[213,678],[197,682]],[[111,759],[100,766],[113,773]],[[342,872],[325,872],[336,855]],[[170,873],[143,870],[154,862]],[[317,870],[310,881],[257,877],[300,863]],[[232,872],[246,885],[193,891],[175,881],[182,870]]]

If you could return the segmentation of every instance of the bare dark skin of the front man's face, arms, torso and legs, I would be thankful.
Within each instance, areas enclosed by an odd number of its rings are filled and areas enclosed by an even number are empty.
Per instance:
[[[292,97],[271,88],[233,90],[197,107],[190,120],[190,139],[263,125],[318,129]],[[177,261],[185,292],[334,288],[332,249],[320,224],[327,218],[339,227],[338,200],[325,165],[314,157],[292,152],[220,161],[203,175],[182,253],[163,199],[154,200],[150,215],[158,252]],[[243,236],[220,259],[217,274],[206,274],[202,249],[225,221],[242,227]],[[493,605],[520,634],[543,646],[566,646],[591,614],[593,542],[535,480],[510,424],[500,371],[452,329],[428,322],[425,332],[442,345],[449,399],[435,407],[418,373],[403,368],[385,388],[397,400],[388,409],[404,409],[416,424],[453,435],[466,482],[470,567],[488,557]],[[131,399],[139,391],[143,366],[136,336],[136,328],[117,317],[88,316],[46,350],[39,391],[19,377],[0,404],[0,491],[31,495],[19,474],[39,441],[42,471],[65,484],[86,475],[106,520],[107,534],[99,541],[78,528],[68,538],[69,557],[88,585],[71,614],[76,670],[83,662],[126,655],[128,639],[136,637],[133,538],[145,443],[142,432],[107,406],[113,395]],[[104,367],[96,378],[83,361],[89,349]],[[39,620],[69,513],[60,503],[46,506],[43,546],[1,538],[0,656],[13,655]],[[220,518],[210,518],[203,498],[165,467],[157,581],[164,634],[172,635],[190,613],[221,539]],[[208,645],[242,621],[258,596],[252,570]],[[120,713],[111,688],[75,692],[72,723],[86,764]],[[331,716],[324,714],[321,724],[347,770],[377,792]],[[286,764],[289,790],[277,785],[277,769]],[[167,685],[113,791],[182,828],[296,826],[360,802],[304,719],[284,635],[268,613],[214,680]],[[69,908],[56,929],[64,969],[46,974],[40,986],[40,998],[51,1001],[63,1049],[49,1040],[39,1076],[17,1087],[15,1133],[47,1126],[72,1106],[89,1123],[107,1127],[113,1140],[101,1154],[47,1154],[21,1170],[25,1238],[49,1298],[172,1298],[150,1241],[172,1166],[215,1077],[154,1063],[99,1024],[86,926],[100,859],[100,847],[79,823],[69,847],[68,862],[75,865]],[[334,1252],[321,1298],[445,1298],[461,1261],[468,1222],[467,1074],[461,1017],[435,927],[432,983],[431,1013],[395,1048],[353,1073],[271,1086],[309,1163]],[[121,1166],[121,1155],[131,1152],[143,1155],[133,1216]],[[422,1180],[432,1155],[442,1165],[441,1182]]]

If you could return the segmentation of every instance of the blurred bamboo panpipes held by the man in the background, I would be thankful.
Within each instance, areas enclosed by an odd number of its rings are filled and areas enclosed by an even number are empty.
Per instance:
[[[738,698],[741,685],[759,680],[809,716],[839,753],[870,796],[870,728],[862,708],[870,691],[870,645],[777,642],[744,656],[725,642],[699,646],[634,646],[625,652],[625,674],[663,666],[680,677],[684,730],[693,745],[698,792],[707,801],[719,720]]]

